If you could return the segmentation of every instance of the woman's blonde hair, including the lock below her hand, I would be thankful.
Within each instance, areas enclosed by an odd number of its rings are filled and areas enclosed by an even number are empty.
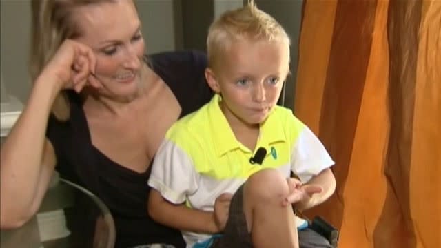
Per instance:
[[[30,76],[34,82],[65,39],[79,36],[74,9],[79,6],[114,0],[32,0],[32,41]],[[54,101],[52,113],[59,119],[69,118],[70,105],[64,91]]]

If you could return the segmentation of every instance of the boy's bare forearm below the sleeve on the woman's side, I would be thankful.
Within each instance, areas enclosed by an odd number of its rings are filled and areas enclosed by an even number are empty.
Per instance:
[[[150,191],[147,207],[156,222],[169,227],[209,234],[220,231],[214,222],[214,212],[190,209],[184,204],[172,204],[156,189]]]

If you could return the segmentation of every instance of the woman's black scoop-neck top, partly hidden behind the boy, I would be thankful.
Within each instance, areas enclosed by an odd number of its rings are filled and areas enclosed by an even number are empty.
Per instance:
[[[150,67],[170,87],[181,105],[181,117],[198,110],[213,95],[204,76],[202,52],[163,52],[147,56]],[[77,183],[103,200],[116,225],[115,247],[168,243],[185,247],[181,232],[160,225],[147,215],[150,170],[137,173],[107,158],[92,145],[79,94],[68,91],[70,119],[50,116],[46,136],[57,156],[61,177]],[[124,134],[121,134],[124,135]]]

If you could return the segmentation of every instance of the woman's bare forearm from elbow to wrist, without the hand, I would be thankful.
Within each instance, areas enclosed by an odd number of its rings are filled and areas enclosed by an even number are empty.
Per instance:
[[[1,145],[0,227],[23,225],[38,209],[56,158],[45,138],[50,107],[58,94],[50,79],[38,79],[28,104]]]

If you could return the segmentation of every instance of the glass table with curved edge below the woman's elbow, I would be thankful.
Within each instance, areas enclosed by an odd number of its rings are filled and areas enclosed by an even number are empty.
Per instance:
[[[110,248],[115,241],[109,209],[87,189],[58,174],[37,214],[22,227],[0,234],[1,248]]]

